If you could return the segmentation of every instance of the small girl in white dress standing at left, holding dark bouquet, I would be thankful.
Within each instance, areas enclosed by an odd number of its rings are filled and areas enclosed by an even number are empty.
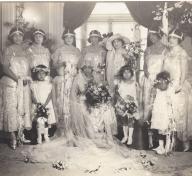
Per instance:
[[[42,129],[42,120],[37,117],[37,142],[42,143],[42,134],[44,134],[45,141],[48,142],[48,127],[51,128],[52,124],[56,123],[55,113],[52,104],[52,84],[46,80],[46,76],[49,74],[49,69],[44,65],[38,65],[32,69],[34,73],[34,80],[31,83],[32,101],[36,106],[36,110],[40,106],[41,109],[47,109],[48,117],[42,118],[46,129]],[[35,114],[34,114],[35,116]],[[47,125],[46,125],[47,123]]]

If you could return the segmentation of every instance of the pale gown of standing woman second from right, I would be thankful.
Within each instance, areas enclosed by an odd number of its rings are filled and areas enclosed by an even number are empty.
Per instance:
[[[151,102],[151,90],[153,88],[154,80],[156,79],[156,75],[161,72],[163,67],[164,60],[164,52],[162,53],[154,53],[152,51],[152,47],[147,48],[145,51],[145,59],[149,72],[149,77],[143,77],[142,79],[142,106],[143,106],[143,118],[148,120],[149,113],[152,110],[152,102]],[[162,48],[160,48],[162,49]]]

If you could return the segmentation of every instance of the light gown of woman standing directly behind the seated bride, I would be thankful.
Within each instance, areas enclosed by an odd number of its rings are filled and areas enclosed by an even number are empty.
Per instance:
[[[93,67],[94,81],[97,83],[105,80],[105,70],[100,66],[105,65],[106,51],[102,46],[87,46],[82,50],[82,59],[80,60],[80,66],[87,65]]]

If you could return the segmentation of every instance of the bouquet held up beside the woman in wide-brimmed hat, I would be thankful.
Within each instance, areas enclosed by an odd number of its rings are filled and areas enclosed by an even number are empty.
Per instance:
[[[144,53],[144,51],[141,49],[141,43],[130,42],[128,45],[126,45],[126,50],[126,58],[128,59],[128,65],[133,70],[136,70],[137,60],[141,57],[141,54]]]

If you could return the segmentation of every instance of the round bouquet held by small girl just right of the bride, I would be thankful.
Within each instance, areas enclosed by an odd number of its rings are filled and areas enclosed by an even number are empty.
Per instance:
[[[115,105],[116,113],[121,115],[122,117],[127,114],[133,115],[137,112],[138,107],[134,101],[132,96],[127,96],[126,99],[122,99],[121,97],[118,99]]]

